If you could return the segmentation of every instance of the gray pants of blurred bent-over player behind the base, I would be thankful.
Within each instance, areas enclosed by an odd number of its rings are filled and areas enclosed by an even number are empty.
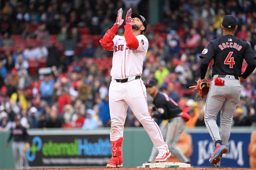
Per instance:
[[[163,127],[160,128],[164,141],[169,147],[169,151],[181,162],[188,162],[188,158],[180,151],[180,148],[176,146],[177,142],[180,139],[180,135],[186,127],[186,122],[179,116],[169,119],[169,122],[166,123]],[[151,155],[148,159],[148,162],[154,162],[158,150],[153,146]]]

